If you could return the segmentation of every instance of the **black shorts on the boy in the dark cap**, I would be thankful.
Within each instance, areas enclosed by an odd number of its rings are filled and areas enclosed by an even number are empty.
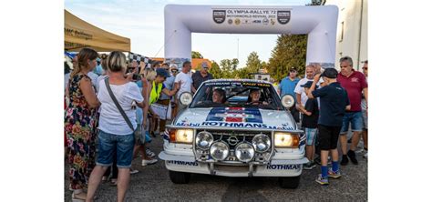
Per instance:
[[[341,126],[324,126],[318,125],[318,136],[319,148],[321,150],[331,150],[337,148],[337,139],[339,138],[339,132]]]

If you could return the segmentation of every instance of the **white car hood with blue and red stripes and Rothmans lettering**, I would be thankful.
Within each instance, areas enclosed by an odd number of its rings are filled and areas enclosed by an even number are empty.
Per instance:
[[[187,108],[172,123],[174,126],[211,126],[294,130],[293,118],[286,111],[257,107]]]

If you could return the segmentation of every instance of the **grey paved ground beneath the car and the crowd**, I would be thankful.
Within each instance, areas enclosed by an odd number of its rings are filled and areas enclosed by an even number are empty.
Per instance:
[[[154,138],[149,146],[159,154],[162,149],[160,137]],[[303,170],[300,186],[297,189],[283,189],[278,186],[276,177],[214,177],[192,175],[188,185],[175,185],[170,182],[168,170],[163,162],[141,167],[139,158],[133,166],[139,170],[131,176],[127,201],[366,201],[367,200],[367,161],[357,156],[359,165],[342,167],[343,177],[330,179],[328,187],[314,182],[319,167]],[[71,201],[71,191],[67,189],[67,165],[65,166],[65,201]],[[98,187],[97,201],[116,201],[116,187],[108,183]]]

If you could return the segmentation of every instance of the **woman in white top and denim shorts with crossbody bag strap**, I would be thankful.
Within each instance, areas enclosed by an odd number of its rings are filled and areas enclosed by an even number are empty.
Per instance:
[[[101,103],[98,134],[98,159],[91,173],[87,201],[92,201],[103,174],[113,163],[116,149],[118,167],[118,201],[124,201],[129,187],[134,131],[137,128],[134,103],[146,106],[139,87],[125,77],[126,56],[113,51],[108,56],[108,78],[99,83],[98,100]],[[145,78],[143,78],[145,79]]]

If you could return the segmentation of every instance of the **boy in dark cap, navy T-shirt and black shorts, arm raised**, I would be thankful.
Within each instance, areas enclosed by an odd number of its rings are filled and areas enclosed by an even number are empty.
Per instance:
[[[324,85],[316,89],[316,84],[323,76]],[[337,71],[326,68],[323,74],[314,76],[314,83],[307,91],[309,98],[320,97],[320,116],[318,117],[318,146],[321,149],[321,174],[316,178],[320,185],[328,185],[328,177],[341,177],[339,171],[337,142],[341,131],[345,110],[350,109],[350,100],[345,89],[337,82]],[[332,169],[327,169],[329,151],[332,156]]]

